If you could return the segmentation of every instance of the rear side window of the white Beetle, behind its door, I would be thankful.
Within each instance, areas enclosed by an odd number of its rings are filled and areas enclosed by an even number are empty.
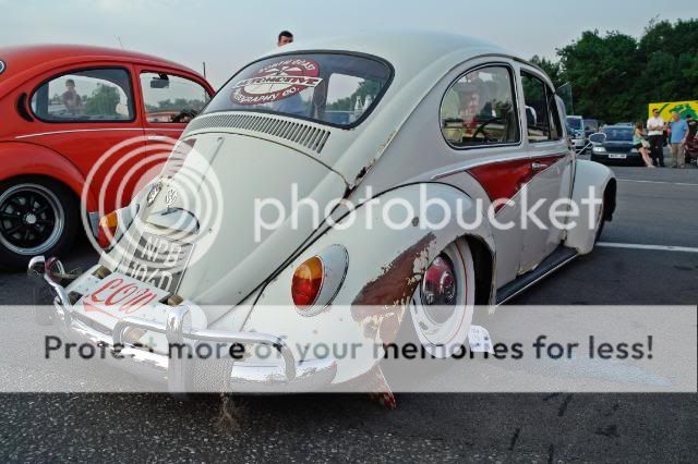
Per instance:
[[[512,72],[505,66],[471,71],[446,90],[441,131],[454,147],[520,141]]]

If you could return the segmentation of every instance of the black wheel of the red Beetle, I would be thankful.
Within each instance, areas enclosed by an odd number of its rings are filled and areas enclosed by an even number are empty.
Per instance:
[[[0,266],[23,268],[36,255],[58,255],[80,227],[75,195],[41,178],[0,182]]]

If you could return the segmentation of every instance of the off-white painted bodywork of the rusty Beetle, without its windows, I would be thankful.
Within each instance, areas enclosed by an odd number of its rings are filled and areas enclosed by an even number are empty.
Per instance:
[[[344,361],[303,359],[303,354],[290,342],[339,340],[373,345],[389,341],[402,319],[401,310],[414,291],[413,282],[419,281],[420,272],[425,268],[417,269],[417,262],[421,260],[429,265],[454,241],[467,241],[473,253],[474,301],[481,305],[502,303],[574,256],[592,249],[598,224],[580,223],[569,231],[522,231],[517,228],[503,231],[492,228],[486,220],[468,231],[455,221],[440,230],[424,231],[413,227],[394,231],[378,223],[373,230],[365,231],[359,225],[345,230],[326,225],[314,229],[310,221],[301,218],[299,228],[292,229],[288,221],[266,234],[261,243],[255,242],[252,228],[243,227],[253,219],[253,198],[276,195],[287,202],[292,183],[299,185],[301,197],[313,198],[320,205],[338,198],[362,205],[361,198],[366,197],[368,191],[372,191],[373,197],[399,197],[416,204],[419,187],[423,185],[430,197],[442,198],[452,205],[464,202],[466,216],[474,219],[480,213],[472,207],[474,203],[490,204],[493,199],[488,191],[492,185],[479,181],[474,174],[478,169],[477,172],[489,169],[490,173],[497,173],[500,169],[502,183],[516,183],[516,179],[507,176],[510,167],[532,166],[526,182],[532,199],[580,199],[592,186],[600,195],[605,195],[605,218],[610,219],[613,212],[615,181],[612,172],[601,164],[576,158],[567,142],[565,124],[558,139],[530,143],[525,136],[526,102],[520,71],[526,70],[553,88],[550,78],[525,60],[484,41],[426,33],[381,34],[312,45],[297,42],[266,57],[313,50],[364,53],[390,64],[394,70],[392,82],[373,111],[351,129],[291,115],[245,111],[198,115],[181,141],[195,138],[196,148],[210,161],[210,169],[220,179],[225,202],[221,220],[216,224],[218,230],[209,231],[212,239],[206,253],[197,256],[184,271],[176,289],[183,301],[171,308],[167,321],[145,322],[129,317],[116,323],[113,337],[93,330],[86,335],[89,340],[115,344],[133,327],[166,334],[168,341],[186,339],[188,333],[196,330],[198,334],[208,331],[210,337],[227,333],[226,340],[269,344],[282,334],[288,343],[285,373],[282,367],[279,370],[275,366],[260,374],[252,366],[245,370],[244,363],[239,363],[233,367],[233,380],[250,383],[263,378],[270,382],[280,376],[281,382],[286,383],[310,378],[318,379],[315,382],[318,386],[340,383],[370,371],[376,364],[375,358],[359,355]],[[492,63],[513,72],[517,124],[524,135],[517,143],[456,149],[441,131],[442,99],[452,83],[464,73]],[[557,101],[562,106],[561,100]],[[564,109],[556,109],[561,111],[559,118],[564,118]],[[311,138],[314,137],[310,142],[298,135],[309,131],[313,134]],[[161,182],[161,188],[167,190],[169,181],[164,179]],[[519,195],[521,187],[513,186],[513,198]],[[165,206],[163,194],[148,204],[147,193],[134,200],[140,204],[137,217],[146,222],[153,211],[172,206],[170,203]],[[177,206],[179,199],[169,200]],[[338,219],[344,212],[339,207],[332,216]],[[368,213],[366,208],[359,206],[357,213],[361,218]],[[504,221],[519,213],[517,206],[504,206],[497,218]],[[127,231],[129,233],[134,232]],[[346,249],[348,267],[337,265],[337,276],[332,274],[333,269],[326,271],[329,272],[327,280],[338,286],[332,303],[311,316],[293,310],[289,288],[294,270],[305,259],[336,244]],[[561,254],[561,249],[565,252]],[[79,319],[64,317],[74,310],[75,297],[71,300],[69,295],[82,296],[94,289],[94,281],[100,279],[94,273],[100,266],[117,271],[113,262],[129,259],[120,253],[112,251],[67,288],[46,277],[49,283],[53,282],[51,285],[58,293],[56,305],[69,329],[83,335],[87,332]],[[196,253],[195,249],[194,255]],[[402,261],[409,266],[400,266]],[[36,270],[41,262],[37,259],[31,268]],[[412,279],[414,277],[417,279]],[[370,285],[376,282],[383,284],[382,289],[392,290],[378,295],[369,294]],[[182,306],[186,305],[197,308],[196,318],[193,318],[197,322],[192,319],[188,323],[193,328],[182,329],[181,317],[186,314]],[[357,315],[352,308],[360,306],[388,309]],[[287,310],[279,310],[279,307]],[[389,334],[386,335],[386,331]],[[260,340],[255,340],[255,334],[260,334]],[[305,362],[305,367],[301,361]],[[292,373],[288,370],[288,363],[296,363]],[[182,369],[168,366],[167,359],[161,357],[147,358],[145,364],[160,374],[165,371],[173,391],[182,389],[182,382],[185,382]],[[306,366],[315,370],[310,371]]]

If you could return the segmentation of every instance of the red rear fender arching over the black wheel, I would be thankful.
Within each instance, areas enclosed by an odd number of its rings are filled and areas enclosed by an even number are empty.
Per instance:
[[[0,181],[17,175],[44,175],[59,181],[72,190],[77,198],[83,193],[85,178],[68,158],[43,145],[25,142],[0,143]],[[95,195],[87,194],[87,211],[98,209]]]

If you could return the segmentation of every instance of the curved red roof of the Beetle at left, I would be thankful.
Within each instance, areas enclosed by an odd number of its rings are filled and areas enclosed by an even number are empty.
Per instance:
[[[48,71],[55,66],[71,64],[72,62],[80,63],[81,61],[88,62],[93,60],[123,61],[170,68],[194,74],[203,80],[203,76],[196,71],[163,58],[135,51],[85,45],[0,47],[0,60],[5,64],[5,70],[0,75],[0,96],[9,87],[14,87],[37,73]]]

